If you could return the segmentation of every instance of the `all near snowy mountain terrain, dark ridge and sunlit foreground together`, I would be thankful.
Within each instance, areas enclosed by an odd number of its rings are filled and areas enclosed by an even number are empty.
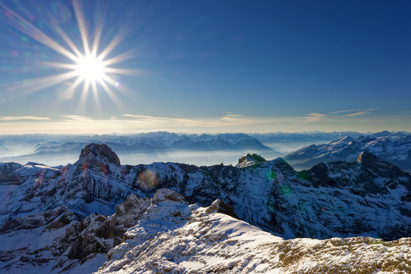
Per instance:
[[[409,174],[367,152],[296,172],[256,154],[121,166],[91,144],[65,167],[2,163],[0,182],[5,273],[411,270]]]

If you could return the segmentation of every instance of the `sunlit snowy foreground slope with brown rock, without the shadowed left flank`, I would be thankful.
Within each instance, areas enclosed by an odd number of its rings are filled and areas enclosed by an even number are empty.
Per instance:
[[[411,239],[284,241],[207,208],[157,191],[139,223],[97,273],[407,273]]]

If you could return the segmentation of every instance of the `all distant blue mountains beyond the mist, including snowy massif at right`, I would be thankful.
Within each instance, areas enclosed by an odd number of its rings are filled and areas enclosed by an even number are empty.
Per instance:
[[[226,133],[226,134],[176,134],[157,131],[140,134],[104,135],[3,135],[0,136],[0,156],[10,155],[14,149],[39,157],[58,157],[65,154],[75,155],[90,143],[106,144],[118,154],[145,152],[186,151],[273,151],[270,144],[298,143],[312,145],[303,147],[284,157],[298,169],[308,169],[316,163],[332,160],[355,161],[362,151],[369,151],[403,170],[411,171],[410,133],[406,131],[361,134],[354,131],[342,132],[303,132],[303,133]],[[321,143],[320,145],[317,145]],[[273,146],[272,146],[273,147]],[[275,149],[275,146],[274,146]],[[296,149],[296,148],[295,148]],[[293,150],[289,150],[293,151]],[[274,151],[276,152],[276,151]],[[277,156],[282,151],[277,153]],[[276,156],[276,157],[277,157]],[[15,161],[12,157],[2,157],[0,161]]]

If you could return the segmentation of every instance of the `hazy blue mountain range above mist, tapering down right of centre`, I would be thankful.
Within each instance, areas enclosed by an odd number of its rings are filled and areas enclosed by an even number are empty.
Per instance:
[[[20,136],[16,139],[7,137],[10,142],[16,143],[21,140]],[[36,136],[37,137],[37,136]],[[59,136],[61,137],[61,136]],[[23,139],[24,140],[24,139]],[[3,141],[5,142],[5,141]],[[43,143],[39,143],[43,142]],[[200,150],[200,151],[214,151],[214,150],[271,150],[269,147],[263,145],[256,138],[247,134],[218,134],[218,135],[177,135],[167,131],[157,131],[141,134],[130,135],[94,135],[94,136],[74,136],[70,138],[63,138],[58,141],[48,141],[46,139],[33,138],[32,140],[25,140],[20,149],[29,149],[30,153],[60,151],[62,153],[72,152],[79,153],[81,149],[90,143],[104,143],[113,148],[117,153],[130,152],[145,152],[156,150]],[[8,150],[7,147],[0,144],[0,152],[3,149]],[[43,153],[44,154],[44,153]]]

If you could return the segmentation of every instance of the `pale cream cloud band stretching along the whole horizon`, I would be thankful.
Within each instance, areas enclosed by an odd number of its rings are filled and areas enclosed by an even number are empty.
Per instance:
[[[148,115],[123,114],[111,119],[94,119],[79,115],[2,116],[0,134],[83,134],[83,133],[139,133],[148,131],[175,132],[277,132],[277,131],[381,131],[411,130],[407,115],[375,117],[374,108],[336,111],[332,113],[307,113],[303,117],[252,117],[224,113],[210,118],[173,118]],[[339,113],[348,113],[338,115]],[[368,115],[365,115],[368,114]],[[275,117],[275,118],[273,118]]]

